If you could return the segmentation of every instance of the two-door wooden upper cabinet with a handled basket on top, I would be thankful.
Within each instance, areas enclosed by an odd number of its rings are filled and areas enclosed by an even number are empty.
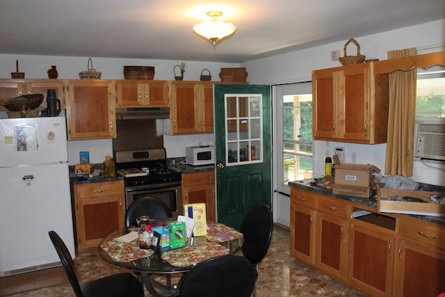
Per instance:
[[[312,72],[315,140],[386,143],[388,76],[372,63]]]

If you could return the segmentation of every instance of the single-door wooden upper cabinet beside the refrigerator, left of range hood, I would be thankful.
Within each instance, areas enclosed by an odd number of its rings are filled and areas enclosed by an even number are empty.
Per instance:
[[[116,137],[113,81],[68,83],[67,131],[69,140]]]

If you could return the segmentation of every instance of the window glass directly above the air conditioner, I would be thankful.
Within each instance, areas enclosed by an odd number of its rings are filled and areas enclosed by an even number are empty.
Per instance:
[[[418,71],[416,117],[445,118],[445,67]]]

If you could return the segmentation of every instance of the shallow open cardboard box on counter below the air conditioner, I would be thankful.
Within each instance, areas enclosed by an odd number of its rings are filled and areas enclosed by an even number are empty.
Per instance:
[[[431,195],[442,196],[441,203],[430,200]],[[389,200],[391,197],[419,198],[425,202]],[[409,191],[377,186],[377,211],[396,214],[417,214],[422,216],[445,216],[445,193],[429,191]]]

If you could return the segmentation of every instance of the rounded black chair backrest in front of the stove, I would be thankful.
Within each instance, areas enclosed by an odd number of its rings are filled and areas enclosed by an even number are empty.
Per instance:
[[[136,219],[140,216],[149,216],[156,219],[172,218],[172,211],[161,199],[147,196],[130,204],[125,214],[125,227],[137,226]]]

